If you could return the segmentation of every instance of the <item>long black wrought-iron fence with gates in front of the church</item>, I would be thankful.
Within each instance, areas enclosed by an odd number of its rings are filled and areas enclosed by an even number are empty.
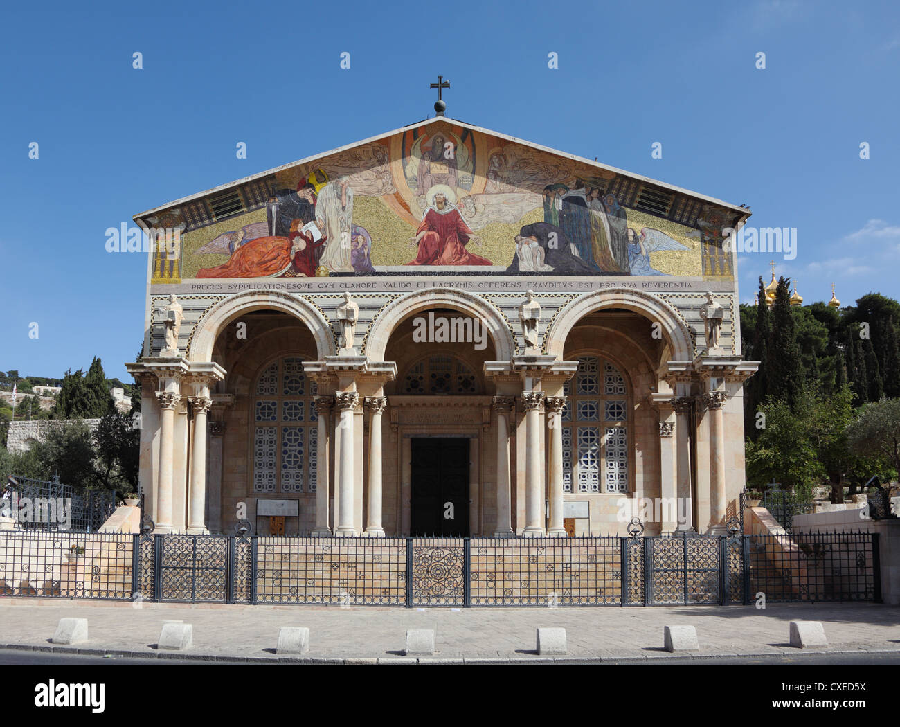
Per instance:
[[[547,539],[0,532],[0,596],[331,606],[881,598],[878,534]]]

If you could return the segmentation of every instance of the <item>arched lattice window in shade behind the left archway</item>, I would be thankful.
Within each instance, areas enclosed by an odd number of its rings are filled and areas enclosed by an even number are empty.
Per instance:
[[[316,386],[301,358],[289,356],[259,374],[253,403],[253,491],[315,492]]]

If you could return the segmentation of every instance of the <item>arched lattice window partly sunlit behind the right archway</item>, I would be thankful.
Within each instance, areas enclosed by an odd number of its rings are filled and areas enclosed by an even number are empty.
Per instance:
[[[613,364],[581,356],[563,392],[563,490],[628,491],[628,390]]]

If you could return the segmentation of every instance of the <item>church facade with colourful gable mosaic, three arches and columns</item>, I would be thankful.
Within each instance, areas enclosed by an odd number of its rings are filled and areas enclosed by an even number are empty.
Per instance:
[[[742,207],[441,115],[135,217],[158,533],[722,533]]]

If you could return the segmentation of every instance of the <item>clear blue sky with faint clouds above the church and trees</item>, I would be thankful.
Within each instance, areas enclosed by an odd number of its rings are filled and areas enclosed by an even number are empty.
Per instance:
[[[4,371],[61,376],[99,355],[130,381],[147,261],[107,253],[105,230],[428,118],[437,74],[452,118],[796,228],[777,272],[807,303],[831,283],[845,304],[900,298],[896,2],[19,7],[0,14]],[[771,258],[741,257],[743,301]]]

